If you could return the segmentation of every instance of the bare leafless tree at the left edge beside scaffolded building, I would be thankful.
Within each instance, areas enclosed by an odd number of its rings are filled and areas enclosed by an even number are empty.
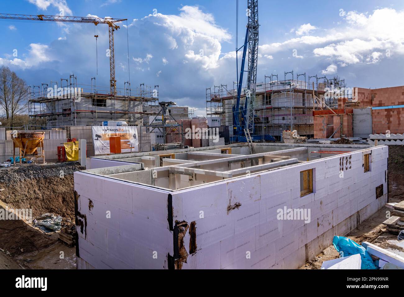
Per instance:
[[[4,126],[13,127],[15,117],[27,112],[28,87],[10,68],[0,68],[0,113]]]

